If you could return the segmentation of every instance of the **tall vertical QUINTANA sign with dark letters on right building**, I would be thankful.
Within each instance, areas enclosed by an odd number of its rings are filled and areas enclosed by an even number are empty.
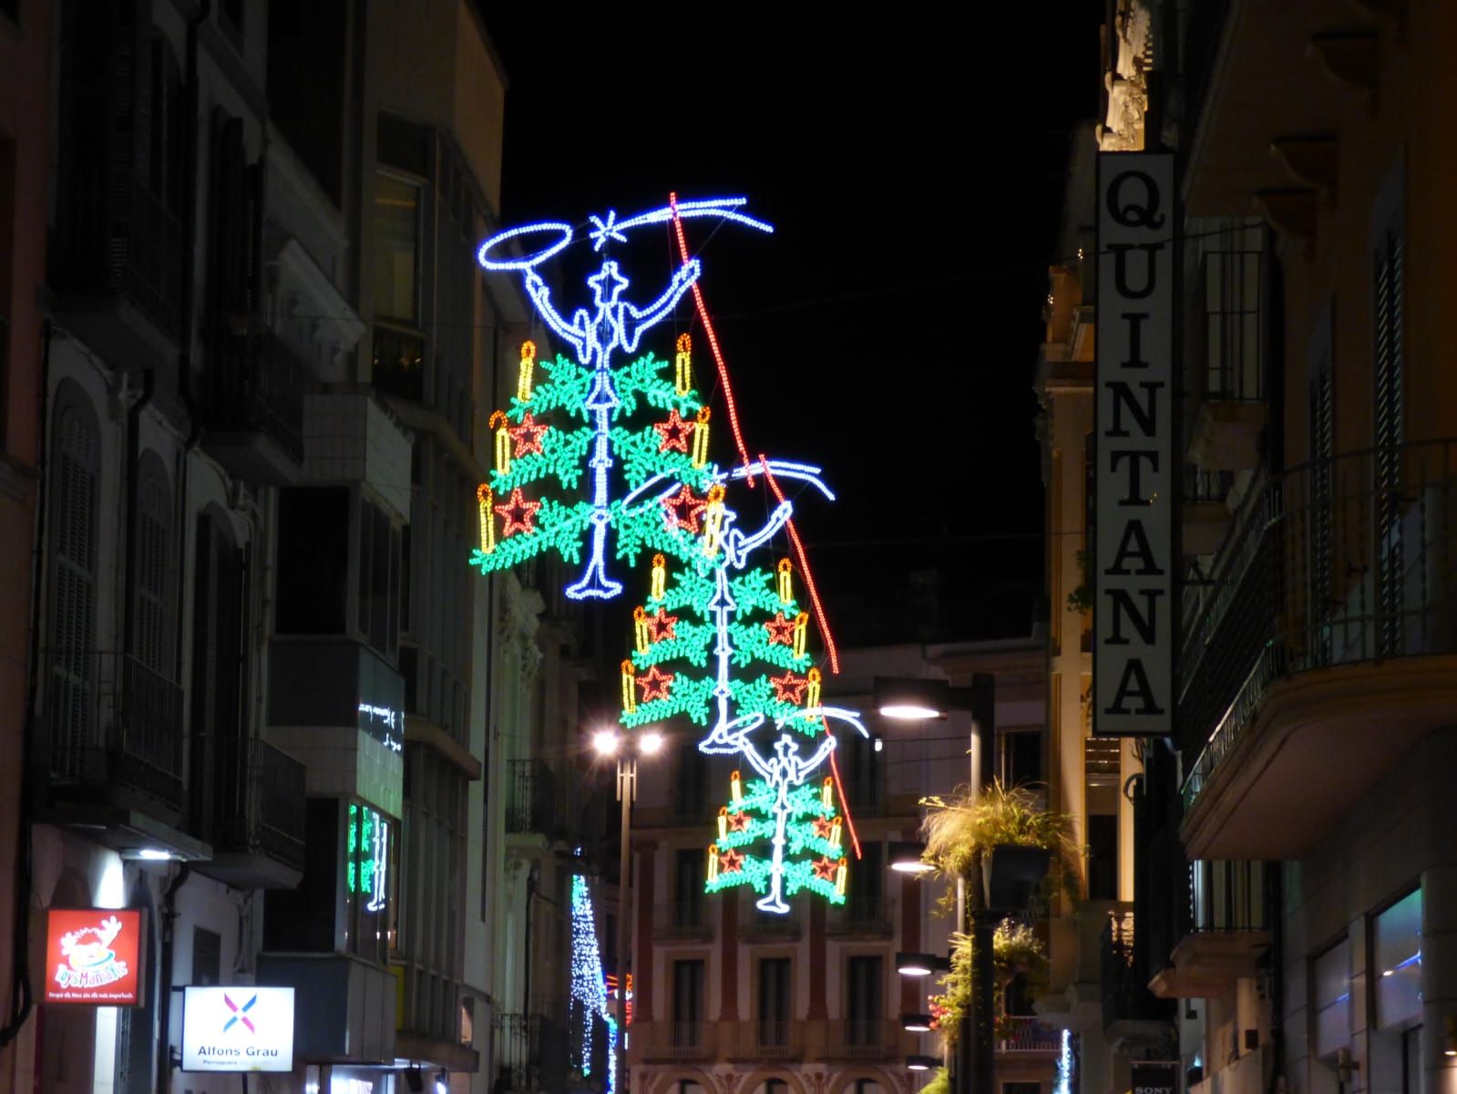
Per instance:
[[[1171,734],[1174,160],[1097,159],[1093,732]]]

